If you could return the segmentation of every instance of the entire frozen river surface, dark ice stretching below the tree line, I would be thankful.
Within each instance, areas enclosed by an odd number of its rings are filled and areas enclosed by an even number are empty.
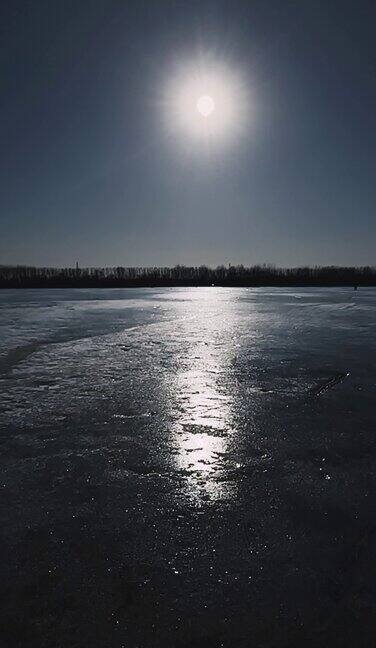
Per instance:
[[[376,289],[0,292],[0,645],[373,645]]]

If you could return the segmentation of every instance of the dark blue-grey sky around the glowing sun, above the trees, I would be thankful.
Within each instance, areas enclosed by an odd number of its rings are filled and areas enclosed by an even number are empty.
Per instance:
[[[3,0],[0,264],[375,264],[375,20],[363,0]],[[232,102],[210,140],[177,109],[205,65]]]

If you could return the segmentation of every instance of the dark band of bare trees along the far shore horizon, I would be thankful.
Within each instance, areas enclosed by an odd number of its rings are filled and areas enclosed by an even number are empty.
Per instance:
[[[175,267],[48,268],[0,266],[0,288],[153,286],[375,286],[376,266],[279,268],[271,264]]]

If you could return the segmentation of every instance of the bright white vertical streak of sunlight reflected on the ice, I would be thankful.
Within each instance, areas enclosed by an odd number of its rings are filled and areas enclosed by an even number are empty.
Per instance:
[[[231,491],[225,465],[233,434],[229,377],[234,323],[231,301],[222,301],[217,290],[209,295],[196,301],[194,317],[180,320],[184,353],[174,383],[176,462],[196,503],[226,499]]]

